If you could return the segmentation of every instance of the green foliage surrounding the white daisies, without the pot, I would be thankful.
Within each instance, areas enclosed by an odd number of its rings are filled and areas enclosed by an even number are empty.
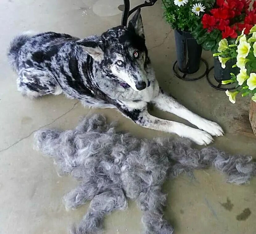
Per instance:
[[[199,16],[192,12],[192,6],[196,3],[202,3],[207,11],[212,8],[215,0],[188,0],[184,6],[176,6],[174,0],[162,0],[164,7],[164,17],[172,29],[193,32],[201,23],[204,12]]]

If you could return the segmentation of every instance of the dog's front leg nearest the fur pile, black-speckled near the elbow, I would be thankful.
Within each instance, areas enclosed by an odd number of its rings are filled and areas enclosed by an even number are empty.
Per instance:
[[[191,139],[198,145],[208,145],[213,142],[212,136],[207,132],[191,128],[182,123],[157,118],[150,115],[146,110],[141,111],[136,116],[136,118],[133,118],[134,115],[127,114],[127,112],[125,113],[125,115],[131,118],[136,124],[144,128],[160,130],[168,133],[176,133],[180,137]]]

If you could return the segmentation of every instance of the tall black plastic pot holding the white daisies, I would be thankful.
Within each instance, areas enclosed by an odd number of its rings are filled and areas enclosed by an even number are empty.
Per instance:
[[[189,32],[174,31],[177,63],[180,72],[192,74],[198,71],[202,46],[198,45]]]

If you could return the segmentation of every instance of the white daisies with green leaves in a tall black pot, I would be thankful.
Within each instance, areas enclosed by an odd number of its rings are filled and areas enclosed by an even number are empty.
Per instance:
[[[178,68],[185,74],[196,72],[200,66],[202,46],[191,32],[201,22],[202,12],[212,8],[215,0],[162,0],[164,16],[174,29]]]

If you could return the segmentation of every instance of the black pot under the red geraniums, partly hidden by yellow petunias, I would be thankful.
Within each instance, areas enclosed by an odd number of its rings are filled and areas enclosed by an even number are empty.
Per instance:
[[[221,83],[222,80],[229,80],[230,73],[234,73],[235,75],[239,73],[239,68],[232,66],[236,64],[236,60],[228,60],[226,62],[226,68],[221,67],[221,63],[218,57],[214,57],[214,78],[217,82]]]

